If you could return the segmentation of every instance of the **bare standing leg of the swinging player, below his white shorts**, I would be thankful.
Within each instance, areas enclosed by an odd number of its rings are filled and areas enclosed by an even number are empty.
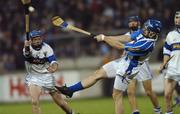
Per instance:
[[[113,99],[115,103],[115,112],[116,114],[124,114],[123,109],[123,91],[113,89]]]

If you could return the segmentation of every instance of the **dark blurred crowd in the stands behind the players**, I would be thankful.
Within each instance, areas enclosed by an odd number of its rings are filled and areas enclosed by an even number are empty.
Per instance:
[[[162,39],[174,27],[174,13],[179,0],[32,0],[31,30],[41,29],[44,40],[55,51],[57,58],[102,56],[117,58],[119,51],[87,36],[55,28],[51,18],[61,16],[68,23],[93,33],[118,35],[128,31],[127,18],[139,15],[143,23],[156,18],[163,23]],[[24,41],[24,12],[20,0],[0,1],[0,73],[24,69],[22,48]],[[84,37],[84,38],[83,38]],[[160,39],[159,51],[163,40]],[[154,61],[161,60],[161,53]]]

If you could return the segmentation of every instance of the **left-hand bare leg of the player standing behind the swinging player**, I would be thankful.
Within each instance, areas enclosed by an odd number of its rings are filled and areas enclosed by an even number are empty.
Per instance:
[[[137,85],[137,80],[130,81],[127,90],[129,104],[131,105],[131,109],[133,112],[138,110],[137,101],[136,101],[136,85]]]

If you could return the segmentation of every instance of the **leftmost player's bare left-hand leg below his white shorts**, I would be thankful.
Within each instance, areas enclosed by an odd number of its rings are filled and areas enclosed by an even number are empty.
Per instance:
[[[31,96],[32,102],[32,110],[34,114],[41,114],[40,106],[39,106],[39,97],[41,94],[41,88],[37,85],[29,86],[29,93]]]

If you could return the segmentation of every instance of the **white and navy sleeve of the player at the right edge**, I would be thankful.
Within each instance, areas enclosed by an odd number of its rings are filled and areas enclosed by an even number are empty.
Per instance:
[[[166,37],[166,41],[164,43],[164,47],[163,47],[163,55],[171,55],[171,51],[172,51],[172,46],[171,46],[171,41],[170,41],[170,37],[171,34],[169,33]]]

